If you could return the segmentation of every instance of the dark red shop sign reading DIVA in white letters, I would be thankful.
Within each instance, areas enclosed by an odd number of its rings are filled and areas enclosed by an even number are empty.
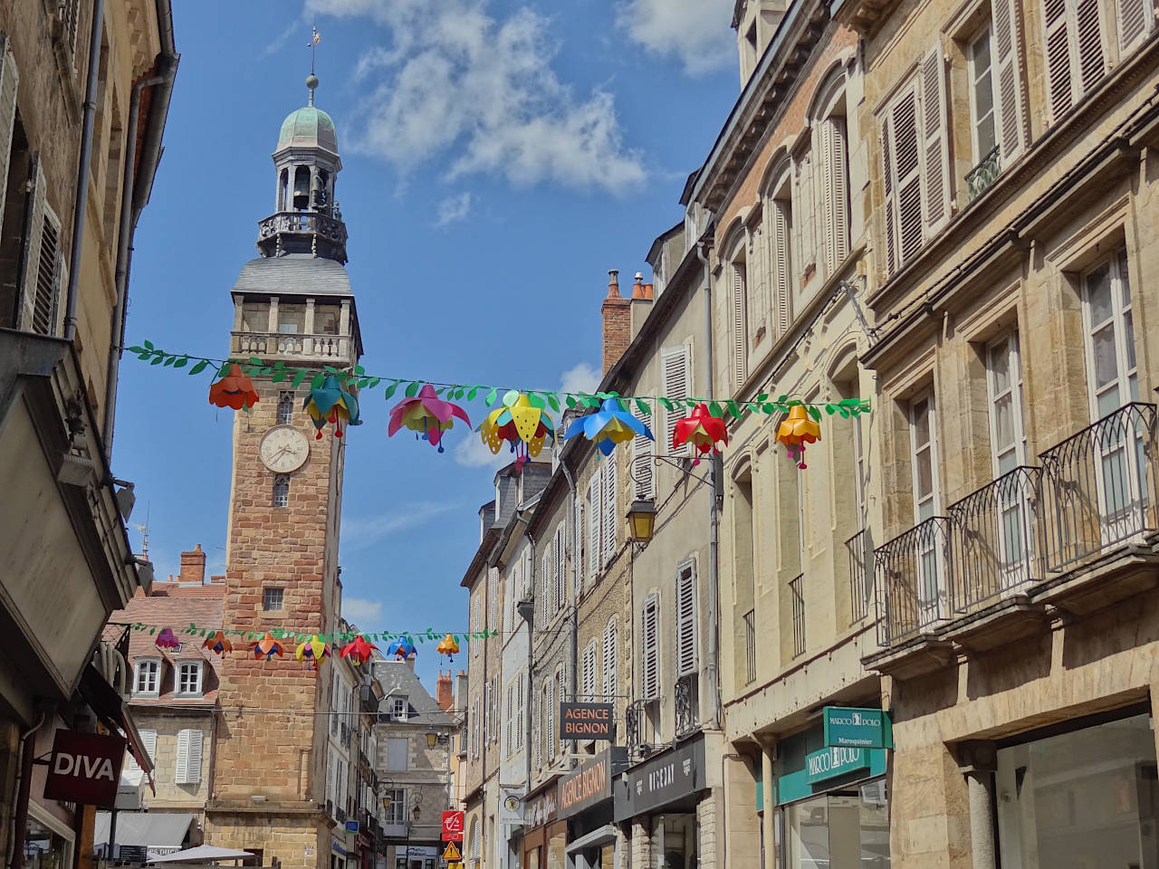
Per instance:
[[[58,730],[44,781],[44,798],[111,809],[121,784],[125,740],[119,736]]]

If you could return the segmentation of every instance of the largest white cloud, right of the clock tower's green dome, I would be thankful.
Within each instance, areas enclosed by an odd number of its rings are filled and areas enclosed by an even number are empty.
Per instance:
[[[620,134],[614,100],[576,95],[552,61],[549,21],[530,8],[488,14],[488,0],[307,0],[308,13],[370,16],[391,32],[355,78],[373,82],[353,147],[403,174],[428,161],[449,178],[497,175],[625,193],[644,181]]]

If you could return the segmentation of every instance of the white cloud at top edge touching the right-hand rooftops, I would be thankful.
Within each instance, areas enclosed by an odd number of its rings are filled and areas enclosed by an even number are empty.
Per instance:
[[[736,64],[732,0],[627,0],[615,22],[654,54],[673,54],[690,75]]]

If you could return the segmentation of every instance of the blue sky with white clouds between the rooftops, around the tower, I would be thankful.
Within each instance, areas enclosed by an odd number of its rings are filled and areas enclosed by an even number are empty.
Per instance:
[[[316,22],[318,105],[338,131],[367,372],[590,387],[607,270],[625,289],[648,273],[653,239],[680,219],[684,180],[737,96],[731,7],[174,3],[181,68],[136,239],[127,343],[227,351],[229,289],[274,210],[270,152],[305,103]],[[207,388],[131,356],[122,365],[114,467],[136,481],[132,520],[148,518],[160,577],[195,543],[224,572],[233,411],[210,407]],[[387,439],[392,403],[369,393],[350,436],[347,615],[367,630],[462,630],[459,582],[502,462],[458,429],[442,455]],[[420,647],[424,679],[437,666]]]

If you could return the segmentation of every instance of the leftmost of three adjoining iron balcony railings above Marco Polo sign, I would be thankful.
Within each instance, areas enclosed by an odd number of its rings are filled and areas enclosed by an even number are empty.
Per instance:
[[[942,621],[949,611],[949,528],[926,519],[874,550],[881,645],[896,645]]]

